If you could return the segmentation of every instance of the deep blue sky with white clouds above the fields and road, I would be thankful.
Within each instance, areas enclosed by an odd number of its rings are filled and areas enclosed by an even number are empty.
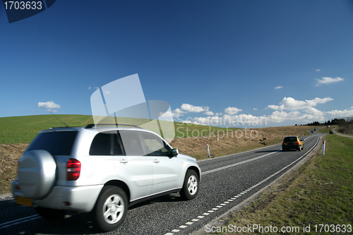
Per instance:
[[[353,116],[351,1],[56,1],[15,23],[1,4],[0,29],[0,116],[91,115],[136,73],[176,121]]]

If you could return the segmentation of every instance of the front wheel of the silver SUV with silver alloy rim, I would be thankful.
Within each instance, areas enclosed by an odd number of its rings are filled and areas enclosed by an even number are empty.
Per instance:
[[[199,189],[199,179],[196,171],[186,171],[183,188],[180,191],[181,198],[184,200],[193,200],[193,198],[196,198],[196,195],[198,195]]]

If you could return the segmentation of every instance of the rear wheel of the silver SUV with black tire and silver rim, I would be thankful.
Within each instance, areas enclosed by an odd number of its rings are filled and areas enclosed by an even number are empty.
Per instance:
[[[128,199],[124,190],[105,186],[93,209],[95,222],[102,231],[112,231],[124,222],[127,210]]]

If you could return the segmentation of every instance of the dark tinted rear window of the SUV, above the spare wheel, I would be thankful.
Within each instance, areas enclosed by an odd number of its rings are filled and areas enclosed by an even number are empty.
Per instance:
[[[47,150],[52,155],[70,155],[77,131],[44,132],[37,135],[25,152]]]

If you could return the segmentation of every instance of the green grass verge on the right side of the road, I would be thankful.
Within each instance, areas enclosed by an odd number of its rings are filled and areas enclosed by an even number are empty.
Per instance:
[[[338,229],[340,234],[347,234],[348,224],[353,225],[353,140],[338,135],[326,135],[325,139],[325,156],[315,155],[246,210],[234,212],[229,221],[231,227],[260,224],[272,226],[273,231],[277,227],[277,233],[285,227],[296,230],[297,234],[318,234],[320,229],[321,234],[339,234]],[[310,232],[304,232],[304,227]],[[287,231],[287,234],[291,233]]]

